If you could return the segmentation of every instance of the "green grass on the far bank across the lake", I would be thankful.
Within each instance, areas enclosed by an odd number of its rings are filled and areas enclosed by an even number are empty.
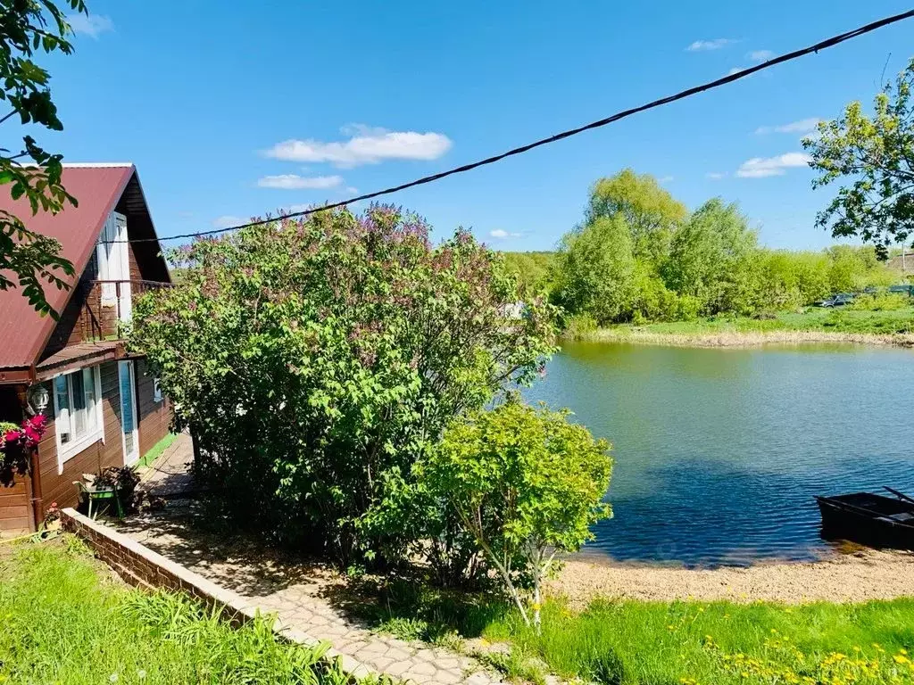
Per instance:
[[[661,335],[703,335],[727,332],[830,331],[844,333],[914,332],[914,307],[889,311],[809,308],[805,311],[781,311],[771,318],[717,316],[697,321],[648,323],[642,326],[623,324],[609,329],[626,332],[648,332]],[[597,332],[599,336],[599,332]]]

